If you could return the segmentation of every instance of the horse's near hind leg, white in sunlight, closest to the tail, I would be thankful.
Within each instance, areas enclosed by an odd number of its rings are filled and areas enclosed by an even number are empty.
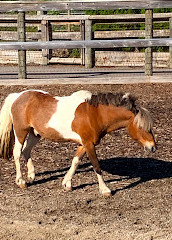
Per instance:
[[[21,155],[22,144],[15,138],[15,145],[13,149],[13,157],[16,165],[16,184],[24,189],[26,188],[26,183],[22,178],[22,173],[20,169],[20,155]]]

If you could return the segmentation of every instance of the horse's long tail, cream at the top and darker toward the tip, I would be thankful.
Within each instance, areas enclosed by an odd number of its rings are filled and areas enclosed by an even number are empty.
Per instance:
[[[0,111],[0,156],[4,159],[9,159],[12,156],[14,132],[11,118],[11,106],[16,96],[17,93],[8,95]]]

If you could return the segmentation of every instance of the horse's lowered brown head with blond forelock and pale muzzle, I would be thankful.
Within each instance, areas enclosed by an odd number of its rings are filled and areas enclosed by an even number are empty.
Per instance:
[[[145,150],[155,152],[156,143],[152,125],[150,113],[145,108],[141,108],[134,120],[130,121],[128,131],[130,136],[139,142]]]

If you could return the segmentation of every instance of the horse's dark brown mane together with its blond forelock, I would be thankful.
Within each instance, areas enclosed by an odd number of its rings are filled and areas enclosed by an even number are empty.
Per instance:
[[[137,98],[130,93],[98,93],[97,95],[93,94],[91,99],[88,100],[88,103],[95,107],[99,104],[112,104],[116,107],[125,107],[134,113],[134,123],[137,124],[138,127],[145,131],[150,131],[153,125],[150,113],[147,109],[140,107],[136,100]]]

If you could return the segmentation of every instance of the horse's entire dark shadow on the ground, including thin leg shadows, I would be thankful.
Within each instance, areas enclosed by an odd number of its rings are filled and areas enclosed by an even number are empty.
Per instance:
[[[132,183],[129,183],[127,186],[124,186],[120,189],[115,189],[112,191],[112,194],[115,194],[117,191],[132,188],[138,184],[150,180],[172,177],[172,162],[166,162],[154,158],[110,158],[100,160],[100,165],[103,171],[115,176],[115,178],[112,179],[111,177],[110,180],[107,180],[106,183],[118,182],[125,179],[133,179]],[[41,179],[35,180],[32,185],[43,184],[56,180],[60,177],[64,177],[68,170],[69,168],[63,168],[59,170],[37,173],[36,176],[41,176]],[[76,171],[76,174],[90,171],[93,171],[91,163],[84,163],[80,165],[79,169]],[[120,178],[116,176],[120,176]],[[97,183],[85,183],[75,186],[73,190],[84,188],[86,186],[92,186],[94,184]]]

